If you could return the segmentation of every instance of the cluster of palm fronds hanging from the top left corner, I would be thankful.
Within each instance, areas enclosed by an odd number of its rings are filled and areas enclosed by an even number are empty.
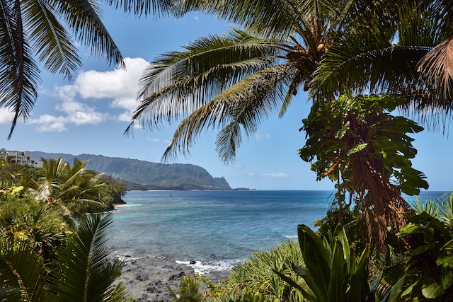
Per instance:
[[[38,96],[38,62],[69,79],[81,66],[72,37],[108,64],[124,67],[121,52],[103,25],[102,3],[135,15],[172,8],[171,0],[0,0],[0,105],[14,112],[8,138],[18,119],[28,118]]]

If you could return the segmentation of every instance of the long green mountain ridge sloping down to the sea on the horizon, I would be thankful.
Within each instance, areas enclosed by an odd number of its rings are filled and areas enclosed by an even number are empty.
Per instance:
[[[93,154],[74,156],[39,151],[30,153],[37,160],[62,157],[63,161],[69,163],[73,163],[74,158],[88,161],[86,168],[125,180],[128,190],[231,190],[225,178],[213,178],[207,170],[198,165],[151,163]]]

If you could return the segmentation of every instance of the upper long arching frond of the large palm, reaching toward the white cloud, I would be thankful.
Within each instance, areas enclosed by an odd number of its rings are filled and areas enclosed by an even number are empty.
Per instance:
[[[276,64],[281,51],[276,45],[274,40],[231,30],[225,37],[201,37],[185,52],[158,57],[142,76],[139,95],[144,99],[125,133],[132,132],[137,120],[153,130],[186,117],[233,83]]]

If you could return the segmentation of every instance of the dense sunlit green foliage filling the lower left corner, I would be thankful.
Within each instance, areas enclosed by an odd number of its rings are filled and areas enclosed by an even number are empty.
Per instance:
[[[85,166],[61,158],[42,168],[1,163],[1,301],[127,299],[113,285],[122,262],[110,259],[111,218],[96,214],[123,186]]]

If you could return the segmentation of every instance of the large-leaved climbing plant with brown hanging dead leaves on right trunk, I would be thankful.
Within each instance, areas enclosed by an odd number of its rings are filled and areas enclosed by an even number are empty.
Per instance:
[[[415,195],[420,187],[428,189],[425,175],[412,168],[417,151],[408,137],[423,128],[389,113],[405,101],[345,94],[334,103],[315,104],[303,120],[307,140],[299,155],[312,162],[317,180],[336,182],[338,219],[344,209],[356,209],[368,243],[381,250],[387,231],[405,225],[409,206],[401,192]]]

